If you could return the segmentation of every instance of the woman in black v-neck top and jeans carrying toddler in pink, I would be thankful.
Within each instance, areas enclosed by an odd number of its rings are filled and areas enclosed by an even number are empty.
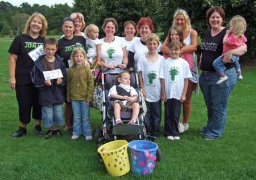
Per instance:
[[[204,135],[205,140],[220,138],[225,128],[226,115],[228,111],[228,98],[237,82],[234,63],[229,63],[232,54],[243,55],[246,52],[246,45],[224,53],[226,63],[225,74],[228,76],[226,82],[219,85],[218,74],[215,72],[212,63],[214,59],[222,54],[223,38],[226,28],[223,27],[225,12],[223,8],[214,6],[207,11],[207,23],[210,27],[204,33],[201,43],[200,68],[202,73],[199,78],[199,85],[204,95],[205,104],[208,110],[207,126],[201,128],[199,133]]]

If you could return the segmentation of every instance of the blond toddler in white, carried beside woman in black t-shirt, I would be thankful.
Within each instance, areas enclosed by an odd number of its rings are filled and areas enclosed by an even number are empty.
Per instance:
[[[101,44],[98,39],[99,29],[95,24],[89,24],[85,28],[87,58],[93,66],[101,61]]]

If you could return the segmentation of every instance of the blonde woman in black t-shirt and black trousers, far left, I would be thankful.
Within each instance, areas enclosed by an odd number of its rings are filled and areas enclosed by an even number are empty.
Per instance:
[[[28,53],[43,45],[47,27],[46,18],[35,12],[28,18],[23,34],[14,38],[9,49],[9,84],[11,89],[16,90],[20,121],[20,127],[14,133],[13,138],[26,135],[26,127],[30,123],[31,108],[32,118],[35,119],[34,131],[36,134],[43,134],[40,126],[41,106],[38,104],[38,89],[34,87],[30,78],[34,61]]]

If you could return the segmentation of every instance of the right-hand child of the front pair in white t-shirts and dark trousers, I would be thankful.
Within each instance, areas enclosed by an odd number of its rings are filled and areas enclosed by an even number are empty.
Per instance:
[[[188,62],[180,58],[182,45],[172,41],[169,45],[170,57],[160,68],[161,99],[166,102],[164,134],[168,140],[179,140],[179,118],[181,103],[186,99],[188,78],[192,78]]]

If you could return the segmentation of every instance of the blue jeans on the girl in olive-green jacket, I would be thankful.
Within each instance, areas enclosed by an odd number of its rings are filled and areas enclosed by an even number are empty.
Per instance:
[[[71,101],[73,109],[73,135],[84,136],[92,135],[92,127],[90,125],[90,106],[84,100]]]

